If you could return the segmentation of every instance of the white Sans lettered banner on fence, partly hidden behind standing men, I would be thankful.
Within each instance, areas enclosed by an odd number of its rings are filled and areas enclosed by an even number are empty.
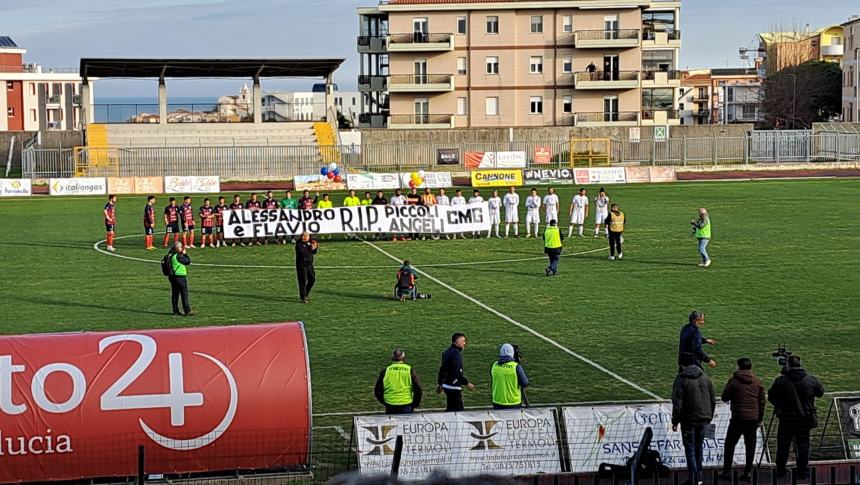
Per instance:
[[[651,427],[654,437],[651,449],[660,453],[669,468],[686,468],[681,428],[672,431],[671,403],[643,404],[641,406],[594,406],[563,408],[567,442],[570,448],[571,472],[595,472],[601,463],[623,465],[639,446],[645,428]],[[723,448],[731,410],[728,404],[718,403],[712,424],[714,436],[705,439],[702,464],[705,467],[723,463]],[[761,456],[762,430],[758,430],[756,460]],[[743,465],[743,438],[735,448],[734,463]],[[765,454],[762,463],[770,463]]]

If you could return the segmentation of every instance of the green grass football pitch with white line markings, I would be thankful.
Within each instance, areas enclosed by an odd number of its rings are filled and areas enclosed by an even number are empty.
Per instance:
[[[589,189],[593,197],[596,187]],[[572,195],[560,191],[565,214]],[[555,278],[544,276],[542,245],[534,239],[323,241],[317,287],[303,305],[291,246],[198,249],[191,250],[192,318],[170,315],[156,264],[161,253],[142,249],[143,197],[121,197],[117,206],[116,254],[136,259],[93,249],[104,238],[101,198],[3,200],[0,332],[302,320],[314,412],[361,413],[380,409],[373,383],[395,346],[405,348],[432,391],[440,353],[455,331],[468,335],[466,374],[477,385],[467,406],[490,404],[489,369],[503,342],[525,354],[533,404],[668,397],[678,331],[691,310],[701,309],[705,334],[719,341],[708,349],[719,363],[711,371],[717,386],[741,356],[770,381],[777,372],[770,353],[784,342],[828,391],[860,389],[853,310],[860,297],[860,180],[612,186],[609,195],[629,219],[623,261],[607,261],[606,242],[591,237],[591,227],[588,237],[565,241]],[[689,234],[702,206],[714,225],[714,264],[707,269],[696,266]],[[398,264],[383,252],[432,276],[419,279],[419,287],[433,299],[391,299]],[[442,405],[428,393],[425,407]]]

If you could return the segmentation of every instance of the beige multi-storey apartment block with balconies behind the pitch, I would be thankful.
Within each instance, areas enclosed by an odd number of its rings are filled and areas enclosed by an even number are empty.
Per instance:
[[[680,1],[358,9],[361,127],[677,125]]]

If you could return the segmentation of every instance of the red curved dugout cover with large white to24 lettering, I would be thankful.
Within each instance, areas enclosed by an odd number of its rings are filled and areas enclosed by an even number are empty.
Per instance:
[[[301,323],[0,337],[0,482],[307,466]]]

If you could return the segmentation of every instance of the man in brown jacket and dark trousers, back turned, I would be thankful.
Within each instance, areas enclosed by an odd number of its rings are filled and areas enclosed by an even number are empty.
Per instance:
[[[732,459],[735,456],[735,446],[738,439],[744,437],[744,448],[746,449],[746,461],[744,462],[744,473],[740,476],[741,481],[750,480],[753,461],[755,460],[755,446],[758,427],[764,419],[764,407],[767,404],[764,396],[764,386],[761,379],[756,377],[752,371],[752,361],[746,357],[738,359],[738,370],[720,396],[723,402],[731,403],[732,419],[729,421],[729,429],[726,431],[725,450],[723,453],[724,480],[731,480]]]

